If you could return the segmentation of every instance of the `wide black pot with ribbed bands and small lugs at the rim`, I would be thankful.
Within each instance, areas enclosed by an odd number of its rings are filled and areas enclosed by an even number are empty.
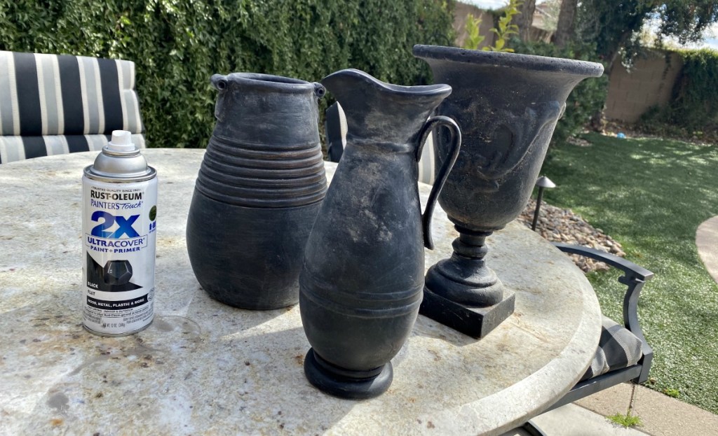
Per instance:
[[[213,75],[219,91],[187,218],[187,250],[213,298],[275,309],[299,300],[304,245],[327,192],[319,83]]]

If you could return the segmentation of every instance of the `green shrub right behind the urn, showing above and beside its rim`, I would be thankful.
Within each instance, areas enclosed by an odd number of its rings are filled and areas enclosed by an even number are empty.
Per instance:
[[[538,56],[563,57],[566,59],[599,62],[595,47],[589,44],[574,44],[563,49],[546,42],[522,42],[514,38],[511,42],[516,53]],[[603,110],[608,93],[608,77],[589,78],[580,82],[566,100],[566,111],[556,124],[552,144],[563,143],[579,133],[592,116]]]

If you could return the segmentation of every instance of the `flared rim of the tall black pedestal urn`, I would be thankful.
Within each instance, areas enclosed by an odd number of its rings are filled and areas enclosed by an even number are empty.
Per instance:
[[[485,52],[482,50],[423,44],[416,44],[413,53],[414,57],[419,57],[427,61],[445,60],[471,65],[558,72],[582,77],[600,77],[603,74],[603,65],[597,62],[563,59],[560,57],[535,56],[533,54]]]

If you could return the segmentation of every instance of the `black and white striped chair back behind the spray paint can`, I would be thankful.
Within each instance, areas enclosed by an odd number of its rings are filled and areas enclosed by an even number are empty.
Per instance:
[[[100,150],[113,130],[144,147],[134,62],[0,51],[0,163]]]

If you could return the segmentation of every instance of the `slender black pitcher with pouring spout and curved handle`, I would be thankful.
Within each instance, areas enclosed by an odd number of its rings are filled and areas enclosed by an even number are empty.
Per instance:
[[[456,156],[459,129],[429,118],[447,85],[397,86],[358,70],[322,80],[344,108],[347,147],[309,235],[299,309],[312,349],[309,382],[346,398],[375,397],[392,379],[389,360],[411,333],[424,287],[424,245],[437,195]],[[421,217],[417,161],[435,125],[454,148]]]

